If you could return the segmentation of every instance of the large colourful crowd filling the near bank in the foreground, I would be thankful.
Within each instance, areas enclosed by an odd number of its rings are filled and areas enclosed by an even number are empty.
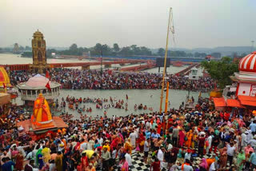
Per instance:
[[[19,137],[22,128],[15,126],[30,115],[22,107],[12,106],[4,119],[0,128],[2,171],[129,171],[141,164],[146,169],[140,170],[151,171],[256,168],[252,112],[217,112],[207,99],[199,98],[195,109],[170,109],[166,114],[79,120],[63,114],[68,127],[37,140],[30,134]]]

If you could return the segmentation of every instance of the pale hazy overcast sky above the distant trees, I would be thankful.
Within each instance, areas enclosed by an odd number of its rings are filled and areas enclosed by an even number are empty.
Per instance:
[[[0,46],[31,46],[39,29],[46,46],[164,47],[169,7],[174,47],[256,42],[256,0],[0,0]]]

